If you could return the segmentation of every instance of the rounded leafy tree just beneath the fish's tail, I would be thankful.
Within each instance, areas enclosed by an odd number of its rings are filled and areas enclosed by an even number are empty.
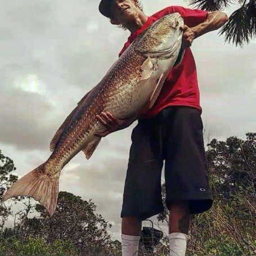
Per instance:
[[[118,255],[120,244],[113,242],[107,231],[111,224],[95,213],[96,205],[92,200],[86,201],[80,196],[61,191],[51,218],[42,205],[37,204],[35,210],[41,216],[28,219],[25,224],[29,226],[26,228],[29,230],[27,236],[43,237],[50,244],[56,239],[70,240],[83,255]]]

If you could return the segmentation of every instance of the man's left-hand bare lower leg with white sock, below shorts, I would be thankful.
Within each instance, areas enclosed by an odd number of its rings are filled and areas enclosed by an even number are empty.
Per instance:
[[[141,221],[137,217],[122,218],[122,256],[137,256]]]

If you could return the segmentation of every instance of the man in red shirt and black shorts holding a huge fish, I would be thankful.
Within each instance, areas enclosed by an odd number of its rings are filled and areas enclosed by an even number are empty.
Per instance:
[[[219,29],[227,22],[223,12],[190,10],[170,6],[147,17],[138,0],[102,0],[99,10],[111,24],[131,32],[123,50],[154,21],[179,12],[185,21],[181,64],[165,80],[155,105],[138,114],[132,132],[127,177],[125,179],[122,217],[122,255],[136,256],[141,234],[141,221],[163,211],[161,169],[165,160],[165,204],[169,209],[170,255],[185,255],[190,214],[203,213],[212,206],[208,168],[203,142],[203,124],[199,103],[195,61],[190,46],[195,38]],[[96,118],[106,131],[128,127],[133,119],[116,120],[111,113]]]

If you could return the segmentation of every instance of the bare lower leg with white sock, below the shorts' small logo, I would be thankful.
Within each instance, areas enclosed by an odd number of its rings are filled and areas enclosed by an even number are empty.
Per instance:
[[[185,256],[190,226],[188,203],[183,200],[174,201],[169,210],[170,256]]]

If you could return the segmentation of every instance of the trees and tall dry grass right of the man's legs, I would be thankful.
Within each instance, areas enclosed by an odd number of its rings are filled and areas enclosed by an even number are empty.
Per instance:
[[[188,255],[256,254],[256,133],[214,139],[206,157],[214,203],[192,215]],[[168,214],[165,208],[158,220],[168,222]]]

